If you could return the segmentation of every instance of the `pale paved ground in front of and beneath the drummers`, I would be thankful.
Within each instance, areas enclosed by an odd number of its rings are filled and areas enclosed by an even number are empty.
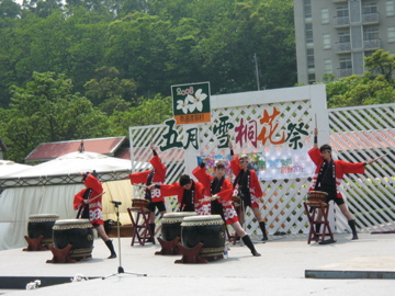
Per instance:
[[[258,237],[252,238],[262,254],[260,258],[251,257],[247,247],[230,244],[228,259],[207,264],[174,264],[181,255],[155,255],[160,250],[159,243],[131,247],[131,238],[121,239],[121,263],[119,259],[106,259],[109,251],[100,239],[94,241],[92,260],[74,264],[45,263],[52,259],[50,251],[0,251],[0,278],[3,280],[22,278],[27,284],[33,280],[44,283],[46,276],[67,277],[68,281],[76,274],[82,274],[91,278],[35,291],[4,289],[0,285],[0,295],[70,296],[86,295],[88,291],[100,295],[393,295],[395,280],[366,277],[395,278],[394,234],[362,234],[358,241],[351,241],[350,235],[337,234],[337,242],[326,246],[307,244],[305,235],[269,238],[267,243],[259,242]],[[114,243],[117,250],[117,239]],[[120,265],[125,273],[117,273]],[[308,272],[313,276],[332,278],[307,278]],[[101,280],[113,273],[114,276]],[[362,278],[343,280],[352,276]]]

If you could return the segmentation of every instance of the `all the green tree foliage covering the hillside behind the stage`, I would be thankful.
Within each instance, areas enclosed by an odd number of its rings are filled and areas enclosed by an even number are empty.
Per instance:
[[[162,123],[173,84],[294,86],[293,26],[292,0],[0,0],[7,157]],[[377,52],[365,66],[361,77],[328,79],[330,106],[394,101],[394,57]]]

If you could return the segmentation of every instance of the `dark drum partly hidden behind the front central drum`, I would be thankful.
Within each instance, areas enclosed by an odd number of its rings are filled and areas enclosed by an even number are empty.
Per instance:
[[[166,213],[161,219],[161,238],[172,241],[177,237],[181,238],[181,223],[184,217],[196,216],[195,212]]]

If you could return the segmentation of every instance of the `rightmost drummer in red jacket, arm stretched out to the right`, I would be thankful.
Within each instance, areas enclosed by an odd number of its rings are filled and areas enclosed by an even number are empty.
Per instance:
[[[316,164],[315,174],[313,177],[312,185],[308,191],[321,191],[328,193],[326,202],[334,201],[341,213],[346,216],[348,225],[352,230],[352,240],[358,239],[356,220],[349,212],[345,198],[340,193],[340,182],[345,173],[364,173],[364,167],[373,163],[375,160],[371,159],[366,162],[351,163],[343,160],[334,160],[331,156],[331,147],[327,144],[318,149],[318,129],[314,128],[314,146],[308,151],[308,156]],[[319,210],[317,220],[323,218],[323,213]],[[316,232],[320,230],[320,225],[316,224]]]

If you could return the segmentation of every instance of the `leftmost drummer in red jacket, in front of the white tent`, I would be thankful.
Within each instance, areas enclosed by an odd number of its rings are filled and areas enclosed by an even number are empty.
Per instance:
[[[112,240],[108,237],[104,230],[104,221],[102,217],[102,195],[103,186],[98,180],[95,172],[80,173],[82,183],[86,189],[81,190],[75,195],[74,208],[78,209],[77,218],[89,219],[92,226],[97,229],[98,235],[105,242],[111,251],[109,259],[116,258]]]

